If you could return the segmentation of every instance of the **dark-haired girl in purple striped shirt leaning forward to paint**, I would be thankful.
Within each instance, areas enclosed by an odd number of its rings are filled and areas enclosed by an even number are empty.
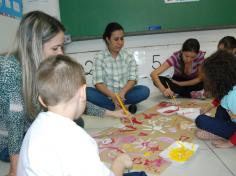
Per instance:
[[[180,51],[175,52],[159,68],[151,73],[156,87],[164,96],[173,96],[175,93],[184,97],[191,97],[192,91],[203,89],[200,66],[204,61],[205,52],[200,51],[200,44],[196,39],[187,39]],[[172,79],[160,76],[161,73],[174,67]],[[168,87],[168,85],[169,87]]]

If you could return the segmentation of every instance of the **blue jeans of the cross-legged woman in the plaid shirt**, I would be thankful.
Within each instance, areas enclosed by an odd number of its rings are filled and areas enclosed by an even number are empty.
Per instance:
[[[93,87],[87,87],[87,100],[97,106],[108,110],[115,110],[115,105],[112,100],[102,92]],[[137,104],[149,97],[150,90],[143,85],[134,86],[125,94],[125,104]]]

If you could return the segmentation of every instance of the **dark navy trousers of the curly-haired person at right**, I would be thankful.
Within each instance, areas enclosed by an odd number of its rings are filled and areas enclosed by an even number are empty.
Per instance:
[[[236,132],[236,123],[231,121],[228,112],[222,106],[217,107],[215,118],[199,115],[195,122],[198,128],[225,139],[229,139]]]

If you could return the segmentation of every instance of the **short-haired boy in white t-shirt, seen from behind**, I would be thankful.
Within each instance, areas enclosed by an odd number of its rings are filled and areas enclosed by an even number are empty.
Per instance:
[[[20,151],[17,175],[121,176],[132,166],[127,154],[119,155],[109,170],[98,147],[73,120],[86,105],[82,66],[68,56],[44,60],[36,73],[41,112],[27,131]]]

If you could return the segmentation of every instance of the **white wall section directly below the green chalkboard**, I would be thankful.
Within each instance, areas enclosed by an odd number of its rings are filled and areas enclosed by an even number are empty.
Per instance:
[[[226,36],[236,36],[236,29],[165,33],[143,36],[125,37],[125,48],[134,53],[135,59],[139,66],[139,83],[147,85],[151,92],[156,90],[150,79],[150,72],[160,66],[174,51],[181,48],[182,43],[187,38],[197,38],[201,44],[201,50],[206,51],[206,56],[213,53],[218,41]],[[66,46],[66,53],[74,57],[84,65],[87,75],[87,84],[91,83],[91,67],[94,55],[105,49],[102,39],[77,41]],[[168,70],[164,75],[171,76],[173,70]]]

